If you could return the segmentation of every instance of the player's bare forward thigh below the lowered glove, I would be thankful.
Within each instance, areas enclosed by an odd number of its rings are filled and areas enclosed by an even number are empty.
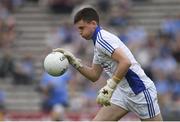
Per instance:
[[[127,110],[111,103],[111,106],[102,107],[93,121],[117,121],[127,113]]]

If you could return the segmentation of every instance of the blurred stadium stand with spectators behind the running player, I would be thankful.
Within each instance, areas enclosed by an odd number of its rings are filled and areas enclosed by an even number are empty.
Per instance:
[[[90,65],[93,43],[72,25],[72,12],[95,7],[154,81],[163,119],[180,120],[179,0],[0,0],[0,120],[91,120],[107,76],[96,83],[72,67],[61,77],[43,59],[62,47]],[[129,113],[122,120],[138,120]]]

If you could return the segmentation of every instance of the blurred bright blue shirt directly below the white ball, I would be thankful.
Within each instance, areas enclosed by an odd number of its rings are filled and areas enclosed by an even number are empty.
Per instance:
[[[66,72],[62,76],[54,77],[48,73],[44,73],[42,76],[40,85],[41,87],[52,86],[52,89],[49,91],[48,103],[50,105],[68,103],[68,81],[70,80],[70,73]]]

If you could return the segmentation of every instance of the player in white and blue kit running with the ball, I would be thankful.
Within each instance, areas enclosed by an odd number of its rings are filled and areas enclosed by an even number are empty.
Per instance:
[[[132,111],[141,120],[162,121],[153,81],[146,76],[122,41],[99,26],[97,12],[90,7],[79,10],[74,24],[83,38],[93,40],[92,66],[81,64],[79,59],[64,49],[53,51],[64,53],[70,64],[93,82],[99,79],[103,69],[109,75],[107,84],[101,88],[96,99],[103,107],[93,120],[119,120]]]

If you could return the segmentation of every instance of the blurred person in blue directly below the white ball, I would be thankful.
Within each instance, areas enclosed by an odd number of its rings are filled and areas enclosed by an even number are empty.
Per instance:
[[[71,74],[66,72],[62,76],[54,77],[44,73],[40,82],[43,93],[43,112],[50,114],[52,121],[64,120],[65,107],[68,106],[68,82]]]

